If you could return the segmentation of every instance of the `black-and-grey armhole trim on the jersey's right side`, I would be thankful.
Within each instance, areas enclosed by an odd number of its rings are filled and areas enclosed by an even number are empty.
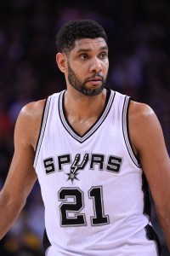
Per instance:
[[[123,132],[124,141],[125,141],[126,146],[127,146],[128,154],[130,155],[131,159],[133,160],[133,163],[140,168],[141,166],[140,166],[139,158],[134,153],[133,145],[132,145],[130,135],[129,135],[128,111],[129,111],[129,106],[130,106],[131,100],[132,100],[131,97],[126,96],[125,100],[124,100],[124,103],[123,103],[123,108],[122,108],[122,132]]]

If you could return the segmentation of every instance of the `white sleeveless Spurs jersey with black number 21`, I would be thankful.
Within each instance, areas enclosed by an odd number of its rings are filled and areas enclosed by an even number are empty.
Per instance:
[[[46,255],[160,255],[128,136],[129,97],[108,90],[103,113],[81,137],[65,119],[64,96],[46,101],[34,161]]]

